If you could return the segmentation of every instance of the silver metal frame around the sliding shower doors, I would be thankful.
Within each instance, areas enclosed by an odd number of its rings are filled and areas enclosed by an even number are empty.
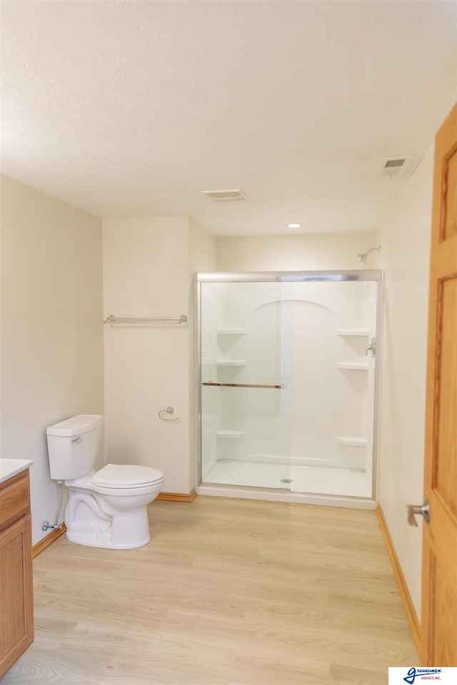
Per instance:
[[[196,483],[197,487],[201,485],[206,485],[202,483],[202,472],[201,472],[201,462],[202,462],[202,445],[201,445],[201,402],[202,402],[202,378],[201,378],[201,284],[202,283],[316,283],[316,282],[343,282],[343,281],[376,281],[376,364],[374,371],[374,397],[373,397],[373,455],[372,455],[372,482],[371,482],[371,497],[357,497],[358,501],[366,500],[366,502],[375,502],[377,497],[377,475],[378,475],[378,434],[379,434],[379,402],[380,402],[380,390],[379,390],[379,380],[380,380],[380,367],[381,367],[381,353],[382,353],[382,303],[383,303],[383,274],[381,270],[378,269],[360,269],[360,270],[325,270],[325,271],[245,271],[245,272],[208,272],[208,273],[196,273],[195,276],[195,288],[196,288],[196,308],[195,308],[195,370],[196,370]],[[231,485],[231,486],[211,486],[213,488],[220,488],[221,491],[229,487],[234,491],[247,493],[249,487],[242,485]],[[268,492],[268,488],[261,488],[263,491]],[[271,489],[271,492],[278,492],[276,489]],[[306,493],[291,493],[291,494],[303,494]],[[247,497],[247,494],[243,494],[243,497]],[[288,499],[288,492],[283,492],[283,498]],[[312,496],[311,496],[312,497]],[[320,495],[319,499],[326,499],[328,497],[328,503],[333,506],[338,506],[335,504],[335,496],[326,496],[325,494]],[[276,499],[276,498],[275,498]],[[340,495],[338,499],[341,502],[345,500],[351,502],[353,497]],[[344,506],[344,504],[339,504],[339,506]],[[372,507],[368,507],[372,508]]]

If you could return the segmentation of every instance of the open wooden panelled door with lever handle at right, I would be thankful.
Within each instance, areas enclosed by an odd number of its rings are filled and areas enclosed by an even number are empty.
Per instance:
[[[424,496],[421,661],[457,666],[457,105],[436,134]]]

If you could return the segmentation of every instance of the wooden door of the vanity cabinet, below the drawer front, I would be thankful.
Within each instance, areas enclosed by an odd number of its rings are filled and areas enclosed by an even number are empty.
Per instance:
[[[33,639],[29,515],[0,533],[0,678]]]

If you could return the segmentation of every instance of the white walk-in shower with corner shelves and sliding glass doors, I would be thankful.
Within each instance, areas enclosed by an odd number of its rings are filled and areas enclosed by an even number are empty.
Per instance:
[[[201,492],[373,501],[380,285],[378,270],[197,275]]]

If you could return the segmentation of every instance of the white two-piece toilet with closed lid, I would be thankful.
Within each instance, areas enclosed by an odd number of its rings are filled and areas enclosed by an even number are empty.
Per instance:
[[[69,488],[66,538],[107,549],[148,544],[147,507],[164,483],[161,471],[146,466],[107,464],[94,469],[103,416],[80,414],[46,428],[52,480]]]

